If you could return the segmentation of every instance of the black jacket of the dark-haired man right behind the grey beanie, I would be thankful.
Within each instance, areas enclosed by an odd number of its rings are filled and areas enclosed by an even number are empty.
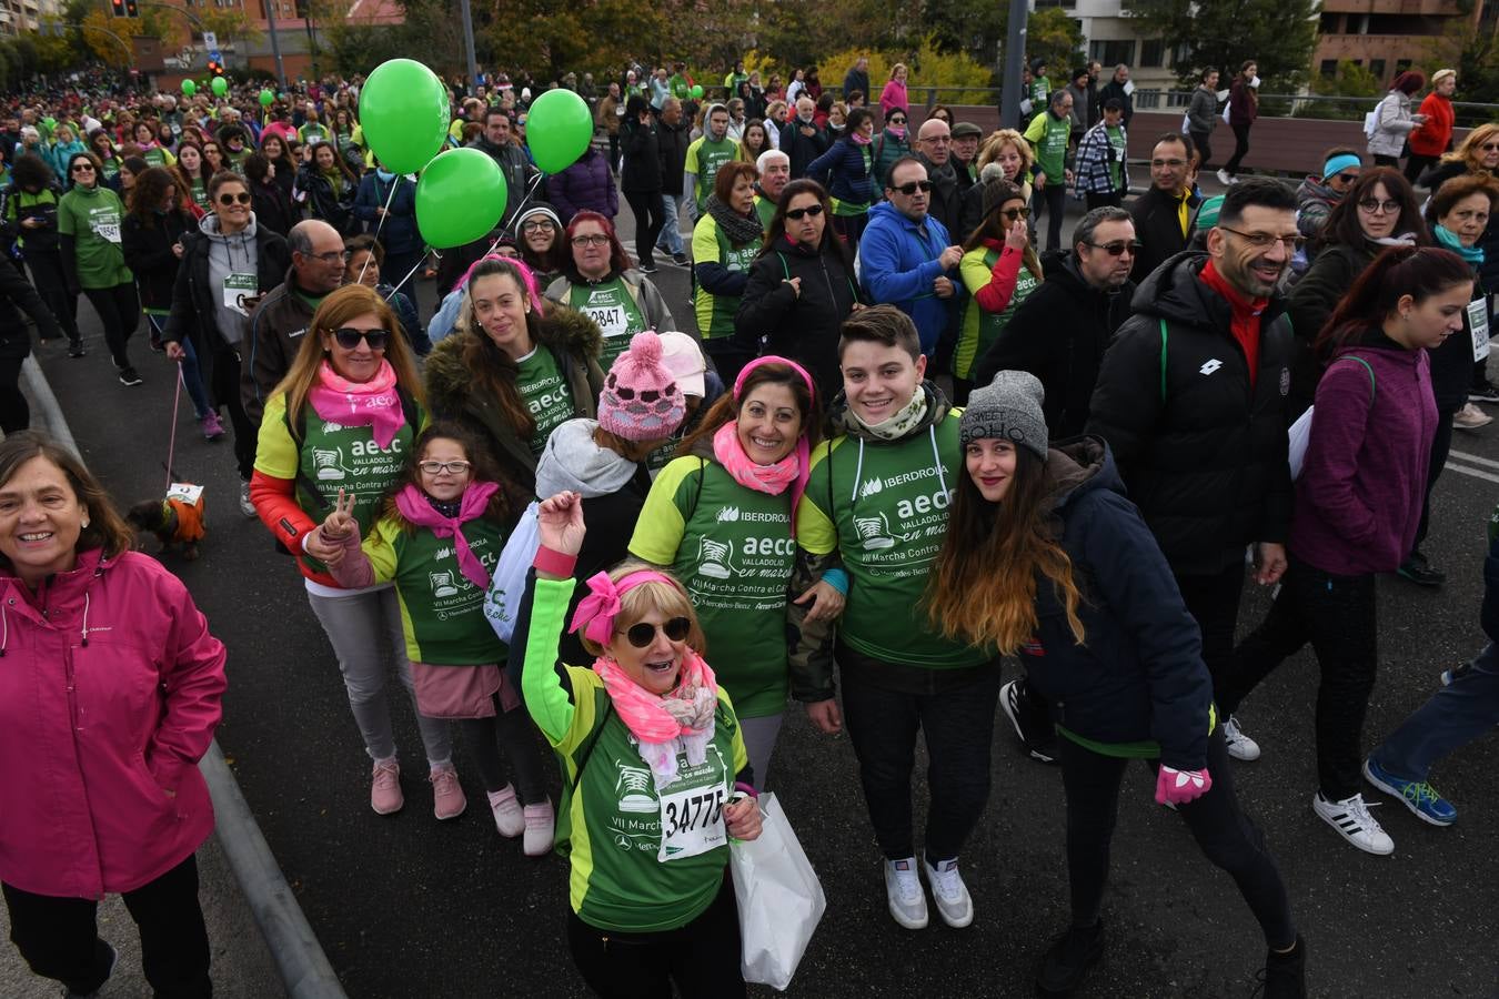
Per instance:
[[[979,358],[973,383],[988,385],[995,371],[1030,371],[1046,389],[1042,412],[1054,439],[1076,437],[1088,422],[1093,386],[1114,331],[1129,319],[1135,285],[1117,292],[1091,288],[1072,252],[1046,255],[1046,280],[1031,292],[988,353]]]

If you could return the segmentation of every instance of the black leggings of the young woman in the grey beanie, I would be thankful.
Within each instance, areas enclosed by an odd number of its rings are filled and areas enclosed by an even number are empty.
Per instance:
[[[1213,788],[1201,798],[1177,806],[1202,855],[1234,878],[1238,891],[1259,921],[1273,950],[1295,944],[1286,884],[1265,837],[1238,807],[1234,768],[1223,746],[1223,726],[1208,737],[1208,773]],[[1067,792],[1067,879],[1072,885],[1072,924],[1090,927],[1099,921],[1103,885],[1109,876],[1109,840],[1118,818],[1120,782],[1129,759],[1102,756],[1058,735],[1061,783]],[[1159,759],[1147,759],[1151,776]]]

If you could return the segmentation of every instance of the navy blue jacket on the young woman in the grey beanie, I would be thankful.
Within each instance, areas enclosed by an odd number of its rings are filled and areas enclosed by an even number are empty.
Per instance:
[[[1060,442],[1046,461],[1052,515],[1082,592],[1085,646],[1037,574],[1036,637],[1021,662],[1052,717],[1099,743],[1154,740],[1178,770],[1207,765],[1213,680],[1202,638],[1102,437]]]

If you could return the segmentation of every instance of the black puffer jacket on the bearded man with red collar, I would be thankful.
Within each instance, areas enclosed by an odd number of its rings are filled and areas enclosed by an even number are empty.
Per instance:
[[[1261,316],[1252,388],[1229,304],[1198,279],[1205,262],[1180,253],[1135,292],[1088,418],[1178,575],[1222,572],[1244,545],[1285,544],[1291,530],[1285,303]]]

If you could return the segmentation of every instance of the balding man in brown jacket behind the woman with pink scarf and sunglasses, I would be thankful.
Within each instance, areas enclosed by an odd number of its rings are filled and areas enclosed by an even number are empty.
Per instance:
[[[286,234],[291,270],[286,280],[249,309],[249,358],[240,376],[244,415],[256,427],[265,400],[291,370],[301,337],[322,300],[343,285],[348,250],[339,231],[321,219],[298,222]]]

